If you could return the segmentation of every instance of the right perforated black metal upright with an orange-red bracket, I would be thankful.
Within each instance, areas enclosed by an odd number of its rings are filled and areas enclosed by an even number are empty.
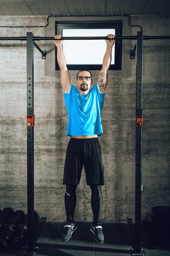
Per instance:
[[[141,252],[141,146],[142,146],[142,64],[143,36],[137,32],[136,61],[136,164],[135,164],[135,248],[133,255],[144,255]]]

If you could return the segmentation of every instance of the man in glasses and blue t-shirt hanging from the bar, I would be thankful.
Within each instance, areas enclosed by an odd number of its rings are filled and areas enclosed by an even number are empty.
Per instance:
[[[54,36],[60,39],[61,35]],[[112,47],[115,36],[109,34],[106,40],[106,53],[103,58],[102,70],[98,82],[93,88],[92,75],[88,70],[80,70],[77,74],[77,88],[71,84],[70,74],[66,65],[66,58],[62,49],[63,40],[54,40],[57,47],[57,62],[60,67],[60,79],[66,108],[68,111],[68,126],[66,135],[71,139],[68,142],[64,166],[63,184],[66,184],[65,208],[66,223],[62,234],[62,241],[68,241],[77,229],[74,220],[76,206],[76,188],[79,184],[84,164],[87,185],[91,187],[91,207],[93,223],[91,232],[95,240],[104,243],[104,235],[100,222],[102,210],[102,189],[104,185],[104,170],[102,151],[98,136],[103,132],[101,111],[104,95],[108,83],[108,70],[111,63]],[[112,39],[112,40],[109,40]],[[82,56],[82,53],[77,53]],[[83,56],[88,57],[88,53]]]

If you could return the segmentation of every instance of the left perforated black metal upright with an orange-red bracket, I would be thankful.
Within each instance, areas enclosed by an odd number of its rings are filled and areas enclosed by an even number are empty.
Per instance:
[[[27,249],[34,245],[34,114],[33,114],[33,34],[27,33]]]

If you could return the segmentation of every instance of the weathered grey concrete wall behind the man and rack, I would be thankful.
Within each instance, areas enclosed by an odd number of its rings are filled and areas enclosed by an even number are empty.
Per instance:
[[[126,17],[122,20],[123,36],[136,35],[139,27],[129,27]],[[53,18],[49,22],[46,28],[0,27],[0,37],[26,36],[26,32],[44,36],[54,24]],[[170,16],[132,16],[131,24],[140,25],[144,35],[168,35]],[[46,17],[0,16],[0,25],[46,25]],[[150,219],[153,206],[170,202],[170,40],[143,43],[142,219]],[[45,49],[44,41],[38,45]],[[134,45],[135,41],[123,42],[122,70],[110,71],[102,111],[104,134],[99,141],[106,180],[102,187],[102,221],[106,222],[135,219],[136,60],[130,60]],[[50,47],[54,52],[53,42]],[[63,221],[62,178],[69,141],[65,135],[68,117],[60,76],[45,74],[49,56],[50,53],[47,60],[42,60],[40,52],[34,49],[35,210],[47,221]],[[71,73],[73,83],[75,74]],[[97,76],[95,72],[94,83]],[[0,89],[0,209],[12,207],[26,213],[26,42],[0,40]],[[83,172],[77,188],[77,221],[92,220],[90,198]]]

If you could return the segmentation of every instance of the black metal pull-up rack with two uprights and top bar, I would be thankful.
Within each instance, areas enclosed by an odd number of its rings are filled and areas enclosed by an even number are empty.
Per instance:
[[[106,40],[108,37],[62,37],[56,40]],[[170,36],[143,36],[142,31],[137,36],[116,36],[112,39],[136,40],[136,45],[131,51],[135,56],[136,51],[136,163],[135,163],[135,235],[131,255],[145,255],[141,249],[141,138],[143,126],[142,111],[142,55],[143,40],[170,39]],[[112,40],[110,39],[110,40]],[[55,40],[54,37],[34,37],[31,32],[26,37],[0,37],[0,40],[26,40],[27,52],[27,216],[28,240],[27,251],[35,254],[34,248],[34,113],[33,113],[33,46],[46,57],[35,43],[36,40]],[[134,58],[134,57],[132,57]],[[26,253],[26,252],[24,252]]]

